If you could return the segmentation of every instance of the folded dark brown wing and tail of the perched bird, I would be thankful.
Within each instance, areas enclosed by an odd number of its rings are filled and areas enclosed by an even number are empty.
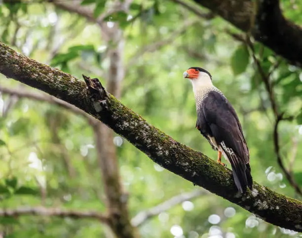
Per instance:
[[[235,110],[224,95],[211,91],[203,101],[203,115],[231,164],[237,188],[240,192],[251,188],[249,151]]]

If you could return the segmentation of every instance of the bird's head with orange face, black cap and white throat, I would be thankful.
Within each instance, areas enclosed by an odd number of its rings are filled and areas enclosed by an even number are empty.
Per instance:
[[[190,79],[193,85],[193,90],[199,87],[212,86],[211,74],[200,67],[191,67],[184,72],[184,78]]]

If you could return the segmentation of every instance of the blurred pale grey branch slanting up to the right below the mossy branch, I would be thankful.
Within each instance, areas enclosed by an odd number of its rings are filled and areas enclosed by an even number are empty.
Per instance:
[[[204,190],[195,190],[190,193],[182,193],[182,194],[176,195],[175,197],[170,198],[154,207],[151,207],[145,211],[140,211],[138,214],[135,215],[135,217],[133,217],[131,219],[131,224],[134,227],[141,226],[144,222],[146,222],[151,217],[156,216],[163,211],[169,210],[170,208],[172,208],[184,201],[188,201],[193,198],[197,198],[200,195],[203,195],[205,193],[206,193],[206,191],[204,191]]]

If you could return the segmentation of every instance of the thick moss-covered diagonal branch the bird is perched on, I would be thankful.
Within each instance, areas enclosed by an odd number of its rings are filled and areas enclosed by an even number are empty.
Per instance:
[[[175,141],[105,91],[98,79],[84,81],[38,63],[0,42],[0,73],[75,105],[111,127],[154,162],[193,184],[235,203],[268,223],[302,232],[302,202],[254,183],[243,196],[232,173],[201,152]]]

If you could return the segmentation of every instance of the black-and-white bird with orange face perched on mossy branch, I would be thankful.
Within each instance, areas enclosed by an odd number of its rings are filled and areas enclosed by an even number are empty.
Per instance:
[[[196,128],[230,163],[238,191],[243,194],[252,189],[250,154],[238,116],[226,96],[213,85],[211,74],[200,67],[191,67],[183,77],[189,79],[195,96]]]

